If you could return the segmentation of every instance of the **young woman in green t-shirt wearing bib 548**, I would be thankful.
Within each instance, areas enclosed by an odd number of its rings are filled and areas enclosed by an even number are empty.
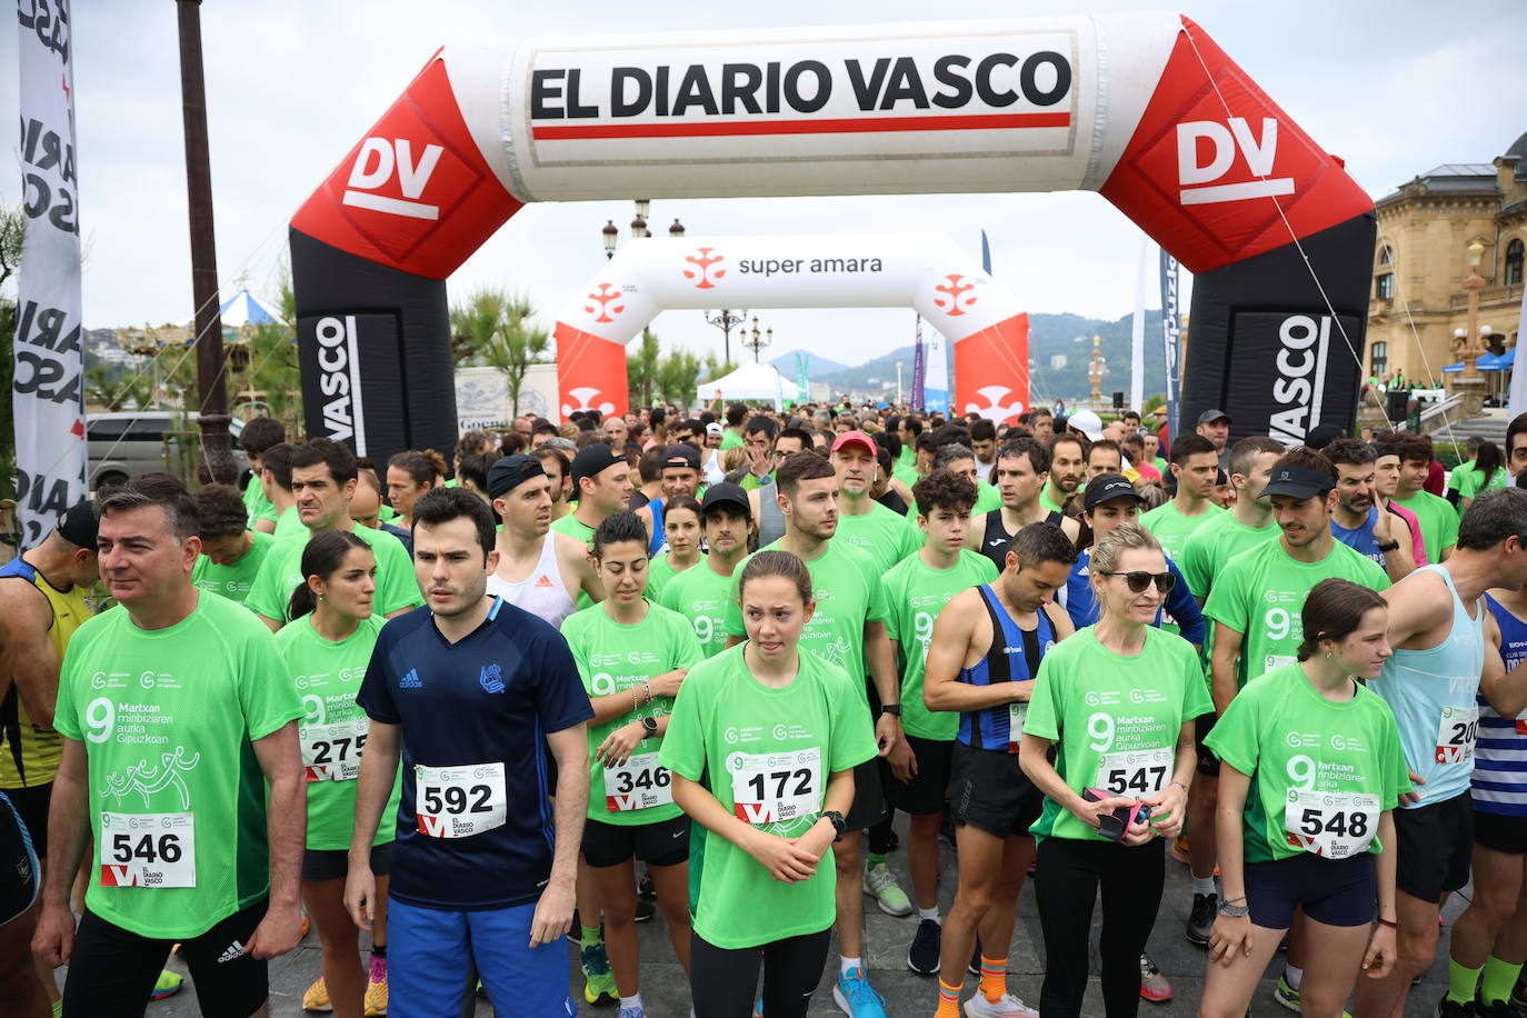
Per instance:
[[[1205,1016],[1246,1012],[1301,907],[1307,957],[1322,962],[1304,969],[1306,1015],[1336,1018],[1358,972],[1380,978],[1396,958],[1393,810],[1411,781],[1394,711],[1364,685],[1390,658],[1390,610],[1333,578],[1301,615],[1298,664],[1248,682],[1205,739],[1222,762],[1225,878]]]

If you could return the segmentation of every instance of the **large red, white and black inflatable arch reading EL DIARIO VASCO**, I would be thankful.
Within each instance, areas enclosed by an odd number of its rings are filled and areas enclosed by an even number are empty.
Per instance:
[[[444,279],[527,201],[1060,189],[1196,273],[1182,423],[1350,426],[1373,201],[1191,20],[1113,14],[437,52],[292,220],[308,433],[449,447]]]

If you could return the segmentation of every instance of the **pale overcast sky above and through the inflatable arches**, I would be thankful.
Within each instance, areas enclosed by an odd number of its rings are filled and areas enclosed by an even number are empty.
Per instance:
[[[1159,6],[1101,0],[1083,9]],[[1067,8],[1073,5],[945,0],[936,12],[960,20]],[[1466,17],[1452,17],[1455,11]],[[76,3],[73,14],[86,325],[188,319],[176,3]],[[1319,145],[1344,157],[1374,198],[1438,163],[1489,162],[1527,130],[1519,0],[1464,8],[1205,0],[1186,14]],[[928,17],[925,3],[909,0],[208,3],[202,29],[224,298],[244,270],[257,295],[273,296],[293,211],[443,43]],[[15,124],[15,44],[0,44],[0,111]],[[18,172],[0,176],[0,201],[20,203]],[[1095,194],[667,200],[654,203],[649,220],[666,230],[673,217],[690,235],[941,229],[976,256],[985,227],[994,275],[1029,310],[1118,317],[1135,302],[1141,232]],[[625,232],[631,218],[629,201],[527,206],[452,276],[450,290],[522,290],[550,327],[557,307],[603,263],[605,220]],[[805,346],[854,363],[909,343],[913,330],[910,310],[757,314],[774,330],[773,353]],[[721,334],[695,311],[669,311],[654,328],[666,345],[721,346]]]

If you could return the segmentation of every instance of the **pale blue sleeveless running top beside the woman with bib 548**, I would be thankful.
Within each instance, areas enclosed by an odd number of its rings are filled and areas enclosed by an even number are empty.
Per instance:
[[[1414,806],[1432,806],[1467,792],[1474,774],[1480,710],[1475,697],[1484,670],[1484,600],[1475,601],[1471,618],[1448,569],[1432,565],[1416,572],[1437,572],[1448,583],[1452,627],[1448,638],[1429,650],[1396,647],[1368,688],[1388,701],[1400,725],[1405,762],[1425,778],[1425,784],[1416,783],[1422,800]],[[1412,806],[1402,803],[1400,807]]]

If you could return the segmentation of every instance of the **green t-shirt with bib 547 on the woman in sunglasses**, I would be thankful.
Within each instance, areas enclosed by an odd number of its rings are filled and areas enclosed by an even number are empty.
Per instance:
[[[1212,710],[1186,639],[1147,626],[1145,646],[1125,656],[1087,626],[1040,661],[1023,734],[1055,743],[1055,771],[1078,795],[1096,788],[1145,798],[1171,784],[1183,722]],[[1035,838],[1106,841],[1052,798],[1031,830]]]

